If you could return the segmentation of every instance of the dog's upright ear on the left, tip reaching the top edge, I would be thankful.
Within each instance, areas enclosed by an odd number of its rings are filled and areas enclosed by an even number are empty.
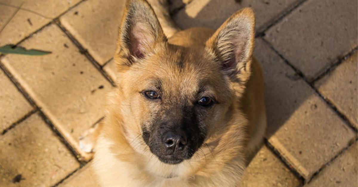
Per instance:
[[[155,44],[166,40],[149,3],[146,0],[127,0],[115,54],[118,65],[132,65],[145,58]]]

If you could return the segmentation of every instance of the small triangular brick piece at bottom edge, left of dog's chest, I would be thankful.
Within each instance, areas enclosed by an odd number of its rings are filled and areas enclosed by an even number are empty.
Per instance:
[[[71,177],[63,181],[59,187],[100,187],[96,181],[96,176],[92,171],[91,163],[79,169]]]

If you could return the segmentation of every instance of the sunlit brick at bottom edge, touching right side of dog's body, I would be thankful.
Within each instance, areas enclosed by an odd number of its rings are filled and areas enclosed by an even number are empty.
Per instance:
[[[300,184],[295,175],[266,146],[263,146],[248,165],[242,187],[294,187]]]

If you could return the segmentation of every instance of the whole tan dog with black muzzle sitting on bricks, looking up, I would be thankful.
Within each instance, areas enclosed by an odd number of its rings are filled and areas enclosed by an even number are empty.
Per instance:
[[[253,11],[238,11],[217,31],[178,31],[165,2],[153,5],[126,3],[118,87],[96,132],[98,181],[238,186],[266,127],[262,72],[252,58]]]

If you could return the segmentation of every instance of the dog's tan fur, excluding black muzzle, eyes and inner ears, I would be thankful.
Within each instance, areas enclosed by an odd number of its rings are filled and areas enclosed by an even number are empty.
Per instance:
[[[141,8],[132,10],[134,7]],[[252,58],[254,24],[248,24],[254,23],[253,11],[238,11],[217,31],[205,28],[174,29],[175,33],[166,33],[166,36],[171,35],[166,39],[164,32],[173,29],[164,28],[163,32],[158,27],[158,20],[148,18],[153,23],[147,24],[137,19],[135,24],[138,25],[128,24],[132,18],[126,17],[128,13],[144,11],[139,14],[147,14],[147,7],[144,0],[130,0],[122,19],[115,55],[118,87],[108,98],[108,112],[98,128],[102,132],[93,163],[98,181],[106,187],[237,186],[247,159],[262,142],[266,127],[262,71]],[[157,15],[160,14],[158,10],[162,9],[154,8]],[[159,21],[162,27],[170,25]],[[228,30],[238,25],[242,28],[234,30],[236,34]],[[154,31],[147,28],[154,28]],[[141,49],[150,51],[145,53],[145,60],[130,55],[128,44],[124,43],[127,39],[124,33],[128,29],[138,29],[139,38],[145,33],[145,38],[141,38],[144,41]],[[231,37],[230,34],[243,38],[236,38],[236,43],[231,44],[231,38],[226,38]],[[218,73],[220,70],[214,60],[229,58],[226,55],[232,49],[228,45],[242,46],[237,50],[242,54],[238,58],[246,62],[237,65],[240,73],[233,80]],[[137,63],[128,60],[131,58]],[[183,60],[182,67],[178,66],[178,59]],[[154,77],[162,80],[163,87],[170,95],[170,102],[174,104],[180,95],[193,95],[198,89],[199,80],[205,80],[210,85],[208,92],[217,96],[219,104],[209,110],[205,143],[191,159],[179,164],[160,162],[141,138],[140,124],[152,120],[150,113],[160,111],[160,107],[171,107],[146,102],[139,94],[150,87],[150,80]]]

